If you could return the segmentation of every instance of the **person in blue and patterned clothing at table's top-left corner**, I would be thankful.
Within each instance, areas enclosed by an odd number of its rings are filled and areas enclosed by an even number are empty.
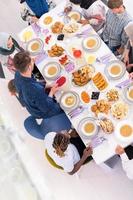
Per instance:
[[[49,11],[46,0],[19,0],[21,6],[21,17],[29,23],[37,22],[38,19]]]

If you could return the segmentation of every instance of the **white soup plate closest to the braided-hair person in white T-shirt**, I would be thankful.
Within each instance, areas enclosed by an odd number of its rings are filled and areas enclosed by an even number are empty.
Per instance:
[[[85,131],[85,125],[87,123],[92,123],[94,125],[94,130],[91,133],[87,133]],[[94,137],[98,133],[98,130],[99,130],[99,127],[96,124],[96,119],[92,118],[92,117],[87,117],[87,118],[82,119],[80,121],[79,125],[78,125],[78,132],[79,132],[79,134],[81,133],[86,138],[92,138],[92,137]]]

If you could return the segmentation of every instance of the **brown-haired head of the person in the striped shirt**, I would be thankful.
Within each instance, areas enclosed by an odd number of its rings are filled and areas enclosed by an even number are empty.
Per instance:
[[[114,14],[121,14],[125,10],[123,0],[109,0],[108,7],[112,10]]]

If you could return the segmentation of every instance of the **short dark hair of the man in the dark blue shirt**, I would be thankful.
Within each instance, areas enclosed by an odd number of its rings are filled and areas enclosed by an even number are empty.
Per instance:
[[[26,72],[29,64],[31,63],[31,57],[28,51],[21,51],[14,56],[13,59],[15,68],[20,72]]]

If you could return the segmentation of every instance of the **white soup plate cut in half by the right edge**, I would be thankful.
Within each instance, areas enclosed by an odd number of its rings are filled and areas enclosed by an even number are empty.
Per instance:
[[[133,105],[133,98],[129,96],[129,92],[133,91],[133,82],[130,83],[127,87],[123,88],[123,94],[126,101]]]

